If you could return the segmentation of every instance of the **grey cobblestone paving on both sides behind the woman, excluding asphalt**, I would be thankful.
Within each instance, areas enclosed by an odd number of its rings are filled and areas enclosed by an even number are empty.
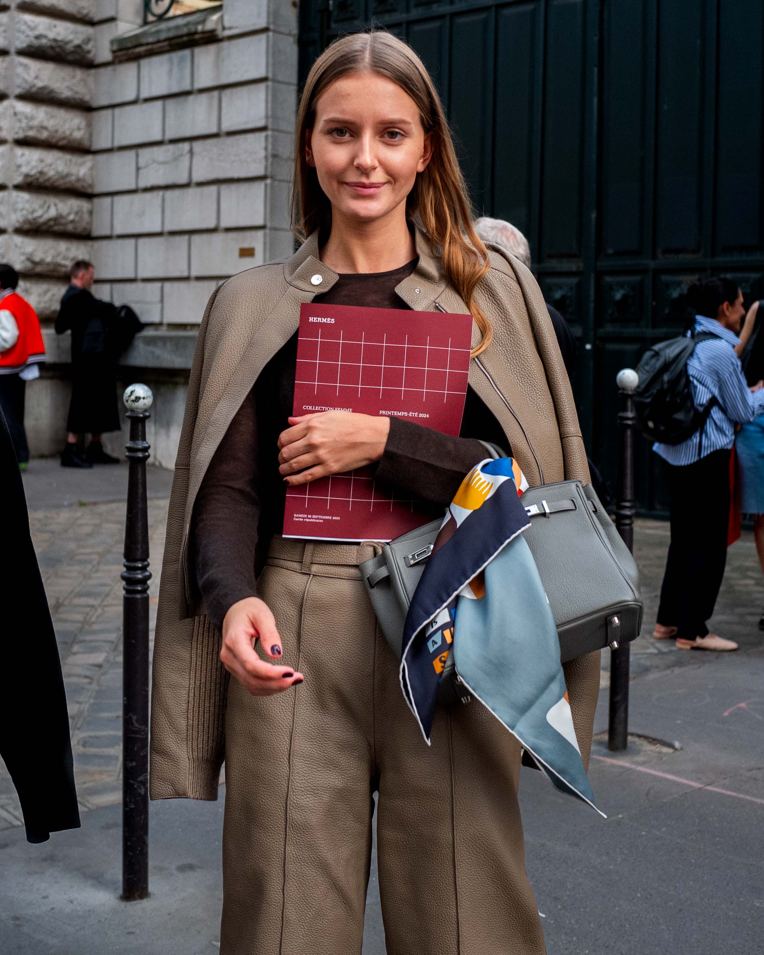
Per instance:
[[[164,546],[166,500],[149,500],[152,636],[159,594],[159,562]],[[33,510],[32,538],[37,551],[58,639],[72,720],[74,773],[83,810],[121,798],[121,595],[124,534],[123,503]],[[631,675],[656,669],[708,664],[713,653],[676,650],[673,641],[649,634],[655,623],[668,523],[638,520],[635,553],[646,602],[643,636],[632,644]],[[764,645],[757,628],[764,606],[764,579],[753,535],[744,533],[729,552],[727,574],[713,618],[715,630],[743,649]],[[609,653],[603,653],[607,684]],[[0,764],[0,828],[22,823],[11,779]]]

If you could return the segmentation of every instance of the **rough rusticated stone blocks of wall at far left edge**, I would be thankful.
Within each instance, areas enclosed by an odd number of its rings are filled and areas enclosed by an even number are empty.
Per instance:
[[[13,0],[0,12],[0,260],[52,319],[70,265],[89,258],[95,4]]]

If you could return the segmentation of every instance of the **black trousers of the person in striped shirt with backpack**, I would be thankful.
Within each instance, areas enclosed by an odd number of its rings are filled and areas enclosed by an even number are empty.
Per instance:
[[[730,451],[694,464],[664,461],[671,499],[671,544],[661,587],[658,623],[677,637],[705,637],[727,562]]]

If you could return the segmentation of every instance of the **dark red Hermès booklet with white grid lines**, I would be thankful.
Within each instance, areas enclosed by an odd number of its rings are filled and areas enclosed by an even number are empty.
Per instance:
[[[382,414],[458,435],[471,339],[472,315],[304,305],[293,414]],[[392,541],[443,511],[391,492],[369,468],[287,488],[284,536]]]

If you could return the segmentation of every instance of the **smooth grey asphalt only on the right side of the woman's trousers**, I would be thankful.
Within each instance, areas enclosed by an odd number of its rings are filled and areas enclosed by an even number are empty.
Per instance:
[[[601,691],[589,778],[606,820],[523,771],[548,955],[764,952],[764,647],[711,655],[631,684],[632,729],[680,751],[609,753]]]

